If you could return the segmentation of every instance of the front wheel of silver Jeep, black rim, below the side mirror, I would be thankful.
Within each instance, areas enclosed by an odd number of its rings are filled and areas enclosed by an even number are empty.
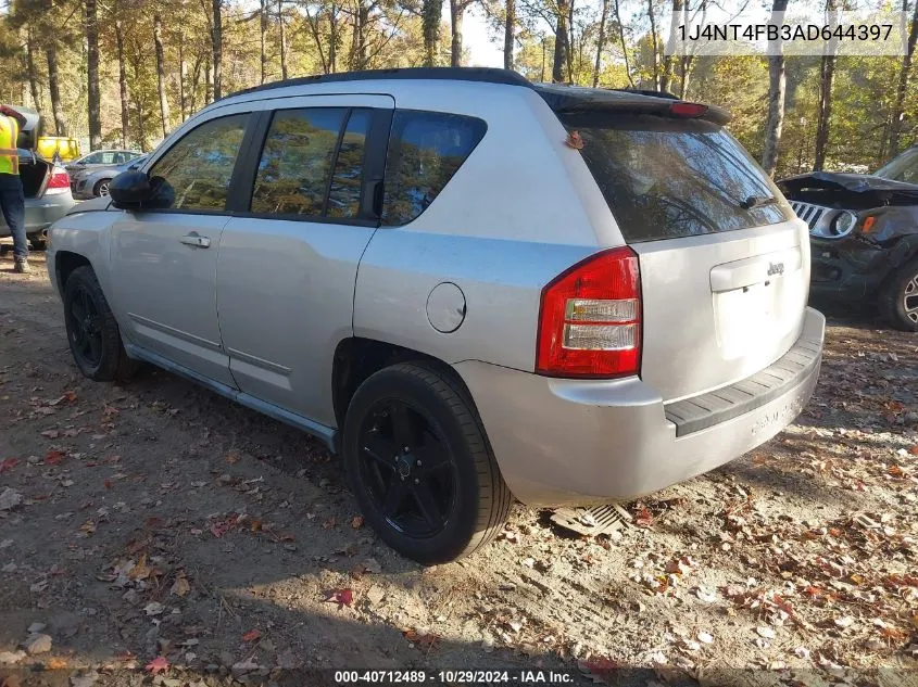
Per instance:
[[[64,323],[74,361],[97,382],[125,381],[139,364],[127,357],[118,325],[91,267],[77,267],[64,285]]]

